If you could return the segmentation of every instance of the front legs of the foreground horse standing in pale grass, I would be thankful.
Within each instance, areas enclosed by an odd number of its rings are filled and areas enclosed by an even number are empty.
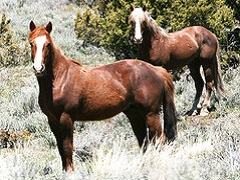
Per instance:
[[[49,119],[49,125],[53,131],[62,159],[64,171],[74,171],[72,154],[73,154],[73,121],[69,114],[62,113],[60,120],[56,122]]]

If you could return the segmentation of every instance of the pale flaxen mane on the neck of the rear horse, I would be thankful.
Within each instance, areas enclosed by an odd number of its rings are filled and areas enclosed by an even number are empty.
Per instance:
[[[145,11],[145,22],[146,22],[146,26],[149,27],[149,29],[152,31],[152,33],[154,35],[156,34],[160,34],[162,37],[167,38],[168,37],[168,33],[165,29],[163,29],[162,27],[160,27],[157,22],[151,17],[151,15]]]

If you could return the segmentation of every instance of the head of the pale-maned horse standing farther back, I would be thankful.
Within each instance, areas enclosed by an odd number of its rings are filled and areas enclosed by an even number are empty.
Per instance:
[[[131,6],[129,22],[132,24],[133,40],[134,43],[136,44],[141,44],[143,41],[143,31],[146,23],[145,11],[146,11],[145,6],[143,6],[143,8],[133,8]]]

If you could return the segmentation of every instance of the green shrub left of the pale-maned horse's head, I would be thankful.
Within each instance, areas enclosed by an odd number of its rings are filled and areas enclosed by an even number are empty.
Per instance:
[[[136,50],[129,45],[130,4],[125,1],[108,2],[105,6],[102,4],[99,1],[93,9],[87,7],[84,13],[77,13],[77,37],[84,41],[83,45],[102,46],[118,59],[134,57]]]

